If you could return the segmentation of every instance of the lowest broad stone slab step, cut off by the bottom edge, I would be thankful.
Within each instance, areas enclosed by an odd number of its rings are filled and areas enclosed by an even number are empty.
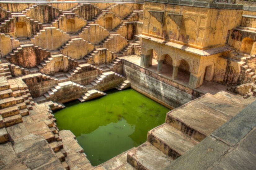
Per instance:
[[[128,152],[127,162],[139,170],[161,170],[173,160],[149,142]]]

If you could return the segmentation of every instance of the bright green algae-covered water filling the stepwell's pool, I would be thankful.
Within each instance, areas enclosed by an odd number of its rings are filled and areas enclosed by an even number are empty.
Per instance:
[[[168,108],[139,92],[111,90],[92,101],[66,103],[54,113],[57,127],[70,130],[93,166],[144,143],[164,123]]]

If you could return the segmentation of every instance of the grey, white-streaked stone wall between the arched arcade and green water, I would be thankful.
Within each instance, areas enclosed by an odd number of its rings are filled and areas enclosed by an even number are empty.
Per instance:
[[[131,82],[131,87],[168,108],[177,108],[202,95],[138,65],[123,62],[124,76]]]

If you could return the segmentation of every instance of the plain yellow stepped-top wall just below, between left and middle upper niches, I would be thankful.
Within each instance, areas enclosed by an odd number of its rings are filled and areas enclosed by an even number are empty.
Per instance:
[[[34,45],[47,50],[56,50],[69,40],[69,35],[55,27],[45,27],[34,38],[31,38]]]

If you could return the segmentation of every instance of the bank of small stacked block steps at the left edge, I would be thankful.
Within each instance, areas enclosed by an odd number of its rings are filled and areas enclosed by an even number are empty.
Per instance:
[[[0,142],[8,141],[5,127],[22,122],[22,117],[32,110],[34,101],[28,87],[21,79],[0,77]]]

